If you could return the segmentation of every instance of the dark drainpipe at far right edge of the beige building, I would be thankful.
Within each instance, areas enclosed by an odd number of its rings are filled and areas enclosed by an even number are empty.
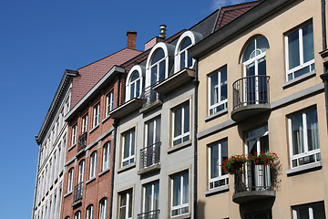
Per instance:
[[[321,1],[321,7],[322,7],[323,52],[324,52],[327,49],[325,0]],[[327,72],[327,64],[328,63],[323,63],[323,74],[320,76],[320,78],[323,79],[323,84],[324,84],[326,122],[327,122],[327,130],[328,130],[328,72]]]

